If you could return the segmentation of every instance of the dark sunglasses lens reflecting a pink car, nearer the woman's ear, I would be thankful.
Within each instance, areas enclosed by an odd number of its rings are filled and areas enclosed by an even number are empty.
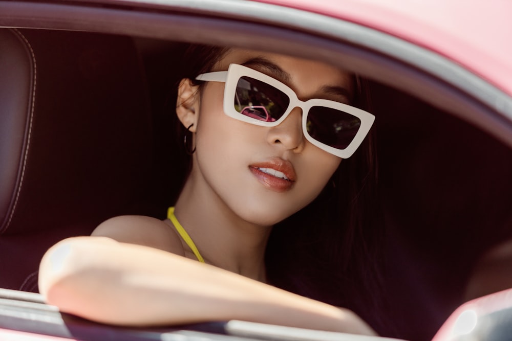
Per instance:
[[[265,82],[241,77],[234,95],[234,108],[255,120],[274,122],[285,113],[290,99],[278,88]]]

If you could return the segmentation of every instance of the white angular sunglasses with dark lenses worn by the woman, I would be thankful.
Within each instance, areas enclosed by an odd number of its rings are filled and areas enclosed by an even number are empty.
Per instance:
[[[355,152],[375,121],[371,113],[348,104],[317,98],[301,101],[286,84],[239,64],[230,64],[228,71],[201,74],[196,79],[225,82],[224,112],[243,122],[275,127],[295,107],[300,107],[306,139],[341,158]]]

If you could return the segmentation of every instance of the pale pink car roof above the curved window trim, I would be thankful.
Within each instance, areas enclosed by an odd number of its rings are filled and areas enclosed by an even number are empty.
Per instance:
[[[452,59],[512,95],[507,0],[256,0],[355,22]]]

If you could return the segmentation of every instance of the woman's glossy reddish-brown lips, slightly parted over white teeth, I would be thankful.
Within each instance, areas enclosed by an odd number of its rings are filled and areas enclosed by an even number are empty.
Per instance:
[[[249,166],[252,174],[263,186],[276,192],[284,192],[293,186],[295,171],[289,161],[275,158]]]

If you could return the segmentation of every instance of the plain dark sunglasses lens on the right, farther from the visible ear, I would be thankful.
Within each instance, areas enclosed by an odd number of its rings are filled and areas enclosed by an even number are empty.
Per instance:
[[[318,142],[336,149],[345,149],[354,140],[361,120],[348,112],[313,106],[309,109],[306,128]]]

